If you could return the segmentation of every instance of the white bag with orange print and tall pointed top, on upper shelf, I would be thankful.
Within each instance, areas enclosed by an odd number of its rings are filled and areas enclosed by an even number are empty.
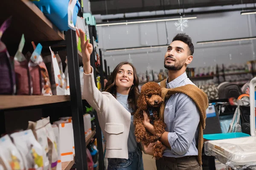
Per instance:
[[[56,85],[56,94],[57,95],[65,95],[64,79],[62,77],[62,75],[63,75],[62,65],[61,65],[61,67],[59,67],[58,61],[56,59],[54,52],[52,51],[51,47],[49,47],[49,49],[52,54],[52,65],[53,65],[54,79],[55,79],[55,85]],[[62,72],[62,74],[61,74],[61,72]]]

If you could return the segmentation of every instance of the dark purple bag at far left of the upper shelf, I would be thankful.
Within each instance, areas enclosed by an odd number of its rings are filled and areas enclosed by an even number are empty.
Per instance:
[[[15,94],[15,71],[10,60],[6,45],[1,41],[4,31],[9,27],[8,18],[0,27],[0,94]]]

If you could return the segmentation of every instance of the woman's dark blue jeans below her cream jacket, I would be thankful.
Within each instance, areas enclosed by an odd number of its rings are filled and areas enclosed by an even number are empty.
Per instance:
[[[128,159],[108,159],[108,170],[144,170],[140,148],[138,147],[134,152],[129,152]]]

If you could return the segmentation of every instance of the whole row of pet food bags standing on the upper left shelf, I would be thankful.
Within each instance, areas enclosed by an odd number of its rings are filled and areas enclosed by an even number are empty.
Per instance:
[[[11,20],[6,20],[1,29],[2,32],[10,25]],[[25,37],[22,35],[18,50],[14,57],[10,57],[5,47],[1,52],[0,70],[6,74],[2,75],[0,84],[0,94],[16,95],[69,95],[69,82],[67,67],[63,72],[61,59],[58,54],[54,54],[49,47],[51,55],[42,57],[42,45],[32,42],[34,51],[22,53],[25,44]],[[67,75],[67,77],[65,76]],[[2,84],[3,83],[3,84]]]

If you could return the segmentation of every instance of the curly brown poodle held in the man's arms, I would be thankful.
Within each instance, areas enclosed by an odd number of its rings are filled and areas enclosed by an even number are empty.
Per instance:
[[[135,136],[137,142],[142,142],[146,146],[148,144],[156,142],[160,139],[162,134],[165,132],[166,124],[159,117],[160,105],[163,100],[161,98],[161,88],[156,82],[147,82],[141,88],[141,94],[138,99],[137,105],[138,109],[134,114],[134,126],[135,126]],[[148,132],[144,125],[143,111],[148,113],[151,124],[154,126],[157,134],[152,135]],[[161,158],[162,155],[162,142],[157,142],[153,147],[153,153],[155,159]]]

